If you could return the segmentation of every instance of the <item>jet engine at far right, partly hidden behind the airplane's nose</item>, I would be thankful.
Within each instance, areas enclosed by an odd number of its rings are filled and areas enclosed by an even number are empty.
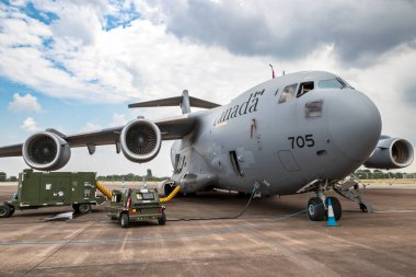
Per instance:
[[[383,137],[374,152],[367,159],[365,166],[373,169],[402,169],[413,162],[413,147],[405,139]]]

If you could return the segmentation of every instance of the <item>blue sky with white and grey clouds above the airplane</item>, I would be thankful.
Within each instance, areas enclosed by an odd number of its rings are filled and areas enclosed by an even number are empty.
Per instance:
[[[383,134],[416,145],[413,1],[0,1],[0,145],[150,119],[178,108],[128,103],[190,95],[227,103],[277,74],[337,73],[378,105]],[[299,20],[302,19],[302,20]],[[380,21],[380,19],[383,19]],[[400,124],[397,124],[400,123]],[[146,165],[76,149],[62,170],[171,174],[170,142]],[[111,162],[109,162],[111,161]],[[1,159],[15,174],[22,159]],[[408,171],[416,172],[414,164]]]

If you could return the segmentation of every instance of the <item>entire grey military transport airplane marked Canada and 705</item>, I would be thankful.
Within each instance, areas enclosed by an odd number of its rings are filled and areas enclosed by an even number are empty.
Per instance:
[[[24,143],[0,148],[0,157],[23,155],[41,171],[66,165],[71,148],[115,145],[138,163],[158,155],[162,140],[171,149],[172,178],[161,186],[169,194],[223,188],[262,195],[314,192],[308,201],[311,220],[324,220],[334,189],[371,208],[357,183],[345,181],[362,164],[377,169],[408,166],[412,145],[381,136],[377,106],[342,78],[323,71],[286,74],[261,83],[227,105],[182,96],[130,104],[129,107],[181,106],[182,115],[163,120],[139,117],[125,126],[66,136],[55,129],[36,132]],[[207,108],[190,112],[190,107]],[[332,197],[335,218],[339,201]]]

